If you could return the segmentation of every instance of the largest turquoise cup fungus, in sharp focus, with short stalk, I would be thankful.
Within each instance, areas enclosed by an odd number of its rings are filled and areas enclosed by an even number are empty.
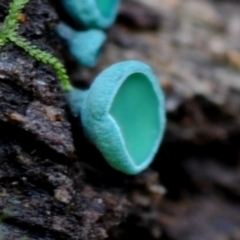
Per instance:
[[[137,174],[152,162],[166,118],[164,96],[149,66],[138,61],[114,64],[89,90],[73,88],[67,99],[86,136],[113,168]]]

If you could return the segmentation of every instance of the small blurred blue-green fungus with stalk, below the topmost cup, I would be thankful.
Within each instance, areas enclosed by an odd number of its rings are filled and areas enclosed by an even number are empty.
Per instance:
[[[98,29],[76,31],[65,23],[58,24],[58,35],[65,40],[71,55],[85,67],[94,67],[106,41],[104,32]]]

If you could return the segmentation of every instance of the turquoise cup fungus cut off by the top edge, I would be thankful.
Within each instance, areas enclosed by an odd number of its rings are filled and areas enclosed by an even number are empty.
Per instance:
[[[61,0],[63,7],[87,28],[108,28],[116,16],[120,0]]]

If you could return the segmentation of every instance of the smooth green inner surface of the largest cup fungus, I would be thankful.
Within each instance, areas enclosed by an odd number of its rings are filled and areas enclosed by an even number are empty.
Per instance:
[[[129,75],[113,99],[109,111],[117,123],[127,152],[141,165],[151,156],[160,132],[159,100],[143,73]]]

